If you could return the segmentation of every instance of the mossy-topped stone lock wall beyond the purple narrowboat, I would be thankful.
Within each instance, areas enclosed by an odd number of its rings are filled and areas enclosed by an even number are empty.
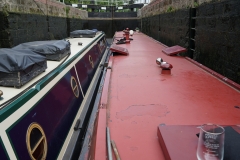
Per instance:
[[[0,2],[0,47],[62,39],[82,29],[87,12],[55,0],[2,0]]]

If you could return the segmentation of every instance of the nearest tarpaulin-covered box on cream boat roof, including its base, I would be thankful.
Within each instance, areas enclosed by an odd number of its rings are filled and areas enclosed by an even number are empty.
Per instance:
[[[0,85],[20,88],[47,68],[45,56],[31,50],[0,49]]]

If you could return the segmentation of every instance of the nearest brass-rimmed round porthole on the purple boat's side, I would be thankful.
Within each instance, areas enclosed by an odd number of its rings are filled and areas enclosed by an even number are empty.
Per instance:
[[[32,160],[45,160],[47,156],[47,138],[38,123],[32,123],[26,134],[27,150]]]

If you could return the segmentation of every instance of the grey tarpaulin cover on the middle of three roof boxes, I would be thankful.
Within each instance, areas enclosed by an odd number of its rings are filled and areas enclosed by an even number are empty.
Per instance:
[[[30,49],[45,55],[48,60],[61,60],[70,53],[70,42],[66,40],[34,41],[19,44],[13,49]]]

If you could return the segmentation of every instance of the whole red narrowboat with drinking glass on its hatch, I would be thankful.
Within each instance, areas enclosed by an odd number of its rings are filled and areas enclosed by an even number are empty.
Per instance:
[[[239,84],[141,32],[116,32],[110,50],[79,160],[197,160],[203,124],[240,159]]]

